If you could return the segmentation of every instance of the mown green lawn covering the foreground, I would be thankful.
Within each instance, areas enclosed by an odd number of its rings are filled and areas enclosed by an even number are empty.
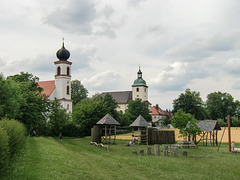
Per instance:
[[[217,147],[180,149],[188,151],[188,157],[179,153],[175,158],[163,152],[159,157],[134,155],[132,151],[145,151],[146,146],[126,147],[120,140],[107,152],[90,141],[28,137],[26,148],[1,179],[240,179],[240,154],[227,153],[227,144],[219,152]]]

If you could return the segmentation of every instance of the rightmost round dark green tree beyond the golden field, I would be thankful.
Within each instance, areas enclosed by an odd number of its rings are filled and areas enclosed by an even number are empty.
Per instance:
[[[234,116],[237,110],[237,102],[234,102],[233,97],[228,93],[214,92],[207,96],[207,110],[211,119],[224,119],[228,115]]]

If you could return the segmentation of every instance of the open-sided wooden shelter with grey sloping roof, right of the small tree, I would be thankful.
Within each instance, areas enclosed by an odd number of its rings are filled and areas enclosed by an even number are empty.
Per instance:
[[[202,130],[198,143],[202,141],[203,145],[206,146],[208,144],[210,144],[210,146],[214,146],[214,144],[216,144],[216,146],[218,145],[217,132],[221,130],[221,127],[217,120],[202,120],[198,122],[197,126]]]

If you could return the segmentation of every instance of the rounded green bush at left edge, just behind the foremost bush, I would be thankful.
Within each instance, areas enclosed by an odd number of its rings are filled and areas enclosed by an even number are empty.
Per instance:
[[[10,158],[21,148],[25,140],[25,127],[16,120],[3,118],[0,121],[2,127],[9,136],[9,153]]]

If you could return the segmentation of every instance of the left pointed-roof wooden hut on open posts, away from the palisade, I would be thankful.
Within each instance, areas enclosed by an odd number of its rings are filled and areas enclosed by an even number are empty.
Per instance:
[[[116,144],[116,126],[120,125],[120,123],[109,114],[106,114],[100,121],[97,122],[97,125],[102,126],[102,142],[111,143],[111,140],[113,140],[113,143]]]

